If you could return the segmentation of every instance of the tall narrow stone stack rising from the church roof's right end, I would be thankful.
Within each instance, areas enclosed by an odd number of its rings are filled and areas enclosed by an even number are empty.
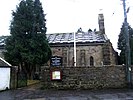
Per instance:
[[[103,16],[102,13],[98,15],[98,24],[99,24],[99,31],[100,31],[102,34],[105,34],[104,16]]]

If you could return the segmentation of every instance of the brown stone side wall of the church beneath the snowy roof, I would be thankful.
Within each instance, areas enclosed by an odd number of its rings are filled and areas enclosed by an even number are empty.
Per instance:
[[[73,66],[73,46],[51,47],[53,56],[63,57],[63,66]],[[90,58],[94,59],[94,66],[116,64],[114,52],[110,43],[104,45],[87,45],[76,47],[76,64],[78,66],[90,66]]]

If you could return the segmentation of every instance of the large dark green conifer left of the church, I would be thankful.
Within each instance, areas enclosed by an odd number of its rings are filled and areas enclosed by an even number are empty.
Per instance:
[[[12,13],[11,35],[6,40],[5,59],[21,67],[28,75],[34,72],[37,65],[41,66],[51,57],[43,13],[39,0],[22,0]]]

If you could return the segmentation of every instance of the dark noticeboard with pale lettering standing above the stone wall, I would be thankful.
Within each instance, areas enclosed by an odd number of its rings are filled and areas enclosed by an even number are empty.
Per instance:
[[[62,57],[52,56],[50,60],[50,65],[55,67],[62,66]]]

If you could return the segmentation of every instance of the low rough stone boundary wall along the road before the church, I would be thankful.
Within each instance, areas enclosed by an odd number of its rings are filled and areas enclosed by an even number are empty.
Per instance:
[[[125,66],[44,67],[41,72],[44,88],[103,89],[126,87]],[[51,80],[51,71],[60,70],[61,80]]]

